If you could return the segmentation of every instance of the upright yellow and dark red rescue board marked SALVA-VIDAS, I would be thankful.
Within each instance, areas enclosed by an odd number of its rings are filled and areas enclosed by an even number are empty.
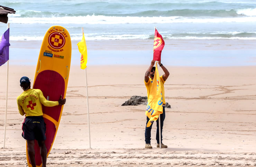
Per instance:
[[[49,101],[58,101],[60,96],[66,96],[68,76],[71,62],[71,38],[68,31],[61,26],[49,28],[41,45],[33,88],[40,89]],[[43,117],[46,123],[47,157],[61,121],[62,106],[43,107]],[[26,147],[27,148],[27,147]],[[26,149],[27,152],[27,149]],[[35,140],[36,166],[42,166],[40,149]],[[31,167],[28,152],[28,166]]]

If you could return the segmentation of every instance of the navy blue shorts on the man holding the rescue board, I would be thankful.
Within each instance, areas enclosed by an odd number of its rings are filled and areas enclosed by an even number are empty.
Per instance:
[[[46,140],[43,116],[27,116],[22,123],[22,137],[26,140]]]

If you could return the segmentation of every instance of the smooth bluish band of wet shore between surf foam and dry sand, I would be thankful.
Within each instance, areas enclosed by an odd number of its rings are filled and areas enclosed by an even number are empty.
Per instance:
[[[80,64],[78,41],[72,41],[71,64]],[[40,41],[10,42],[10,64],[36,65]],[[146,65],[153,40],[86,41],[88,66]],[[162,62],[171,66],[255,66],[256,40],[166,40]]]

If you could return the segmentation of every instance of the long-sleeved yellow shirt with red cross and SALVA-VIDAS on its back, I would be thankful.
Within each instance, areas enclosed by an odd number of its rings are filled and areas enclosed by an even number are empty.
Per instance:
[[[43,115],[42,104],[47,107],[56,106],[59,103],[48,101],[40,89],[29,89],[17,97],[19,113],[25,116]]]

